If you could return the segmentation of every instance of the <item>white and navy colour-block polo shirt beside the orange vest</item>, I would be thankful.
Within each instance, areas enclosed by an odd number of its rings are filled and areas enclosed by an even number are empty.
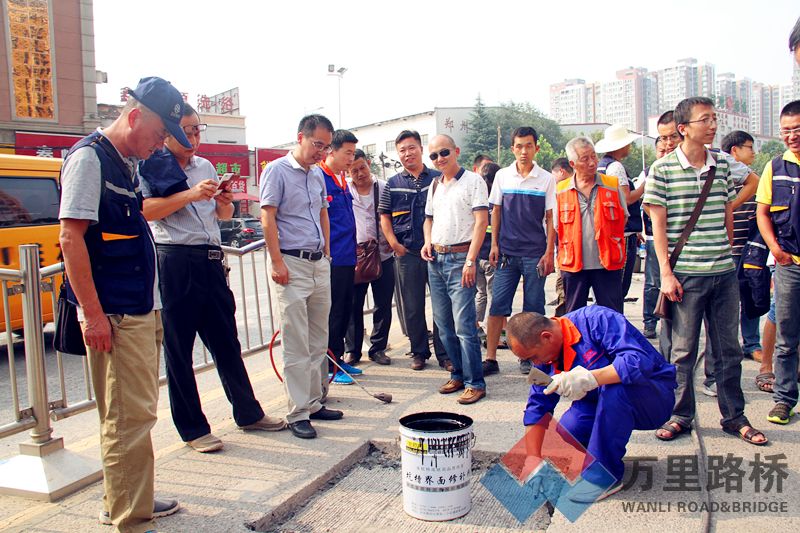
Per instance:
[[[500,253],[512,257],[541,257],[547,249],[545,212],[556,206],[556,180],[533,164],[527,176],[517,163],[497,171],[489,202],[501,208]]]

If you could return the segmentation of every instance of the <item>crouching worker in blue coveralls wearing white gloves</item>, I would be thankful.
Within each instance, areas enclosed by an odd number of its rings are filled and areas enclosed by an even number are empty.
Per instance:
[[[532,385],[524,424],[528,453],[541,456],[546,425],[559,398],[572,406],[559,420],[592,458],[614,477],[593,479],[602,469],[584,464],[582,477],[592,485],[572,492],[578,502],[601,500],[622,489],[622,458],[634,429],[655,429],[669,420],[675,403],[675,367],[623,315],[593,305],[563,317],[538,313],[514,315],[506,327],[511,350],[552,381]],[[549,418],[549,417],[548,417]]]

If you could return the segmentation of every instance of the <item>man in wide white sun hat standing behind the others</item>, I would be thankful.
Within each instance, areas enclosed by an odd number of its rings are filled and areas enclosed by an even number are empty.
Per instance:
[[[637,135],[628,133],[624,126],[613,125],[606,128],[603,138],[595,145],[598,154],[605,154],[597,163],[597,172],[619,179],[619,187],[625,193],[628,203],[628,221],[625,223],[625,267],[622,269],[622,299],[628,295],[639,249],[639,235],[642,232],[642,194],[644,183],[638,188],[631,187],[628,173],[622,160],[628,157]]]

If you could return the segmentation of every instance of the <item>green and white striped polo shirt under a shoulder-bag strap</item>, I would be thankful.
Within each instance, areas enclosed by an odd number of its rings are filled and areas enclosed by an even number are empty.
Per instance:
[[[733,179],[724,158],[706,151],[703,168],[695,169],[680,146],[653,163],[650,169],[644,203],[667,209],[667,241],[672,253],[700,199],[700,191],[712,166],[717,167],[714,183],[700,218],[678,257],[673,269],[676,274],[713,276],[734,269],[725,228],[725,204],[736,198]]]

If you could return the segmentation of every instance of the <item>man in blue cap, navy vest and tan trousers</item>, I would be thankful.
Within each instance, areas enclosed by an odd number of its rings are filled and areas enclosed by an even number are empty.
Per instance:
[[[100,521],[126,532],[152,530],[153,518],[179,508],[153,497],[161,299],[136,165],[168,135],[191,147],[182,111],[169,82],[143,78],[109,127],[72,147],[61,172],[59,240],[100,416]]]

